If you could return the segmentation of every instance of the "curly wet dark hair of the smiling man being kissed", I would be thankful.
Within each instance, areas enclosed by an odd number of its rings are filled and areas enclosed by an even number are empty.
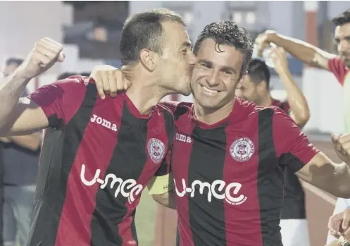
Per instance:
[[[240,74],[249,65],[251,55],[253,54],[254,42],[249,33],[243,28],[239,27],[237,23],[229,20],[221,20],[219,22],[211,23],[204,27],[194,44],[193,53],[197,54],[201,43],[204,39],[214,39],[217,45],[215,47],[220,51],[220,44],[228,44],[239,50],[243,56],[242,69]]]

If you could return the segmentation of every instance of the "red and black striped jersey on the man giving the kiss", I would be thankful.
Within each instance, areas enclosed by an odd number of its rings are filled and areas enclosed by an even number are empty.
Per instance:
[[[158,105],[141,115],[126,94],[101,99],[80,76],[30,98],[49,128],[27,245],[137,245],[135,208],[152,176],[168,173],[173,114]]]

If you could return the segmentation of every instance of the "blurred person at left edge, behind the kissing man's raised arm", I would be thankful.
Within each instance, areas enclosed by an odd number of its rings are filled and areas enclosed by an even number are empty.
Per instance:
[[[23,59],[6,60],[3,70],[8,77]],[[27,97],[27,89],[22,96]],[[41,133],[1,137],[4,154],[3,238],[6,246],[24,246],[30,232],[32,205],[40,154]],[[17,242],[18,240],[18,242]]]

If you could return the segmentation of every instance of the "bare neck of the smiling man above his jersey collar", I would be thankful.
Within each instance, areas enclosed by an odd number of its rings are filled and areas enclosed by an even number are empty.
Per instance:
[[[199,103],[194,100],[194,114],[198,121],[207,125],[213,125],[230,116],[234,103],[235,99],[225,106],[222,106],[220,109],[208,109],[199,105]]]

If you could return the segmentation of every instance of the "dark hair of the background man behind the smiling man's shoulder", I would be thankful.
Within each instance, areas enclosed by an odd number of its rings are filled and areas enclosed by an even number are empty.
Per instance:
[[[252,59],[249,63],[248,75],[251,82],[258,85],[260,82],[265,81],[266,86],[270,87],[270,69],[266,65],[265,61],[260,59]]]

